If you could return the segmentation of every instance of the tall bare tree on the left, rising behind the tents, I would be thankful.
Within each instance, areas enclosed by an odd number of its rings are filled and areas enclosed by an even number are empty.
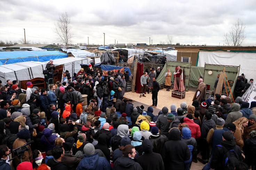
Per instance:
[[[54,32],[58,36],[58,41],[67,46],[71,43],[72,33],[71,33],[70,17],[67,12],[59,14],[59,19],[55,23]]]

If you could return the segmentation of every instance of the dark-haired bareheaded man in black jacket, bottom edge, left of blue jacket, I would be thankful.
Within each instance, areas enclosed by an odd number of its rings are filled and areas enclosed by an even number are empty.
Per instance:
[[[66,165],[61,161],[65,152],[63,145],[57,145],[52,150],[53,158],[47,161],[47,165],[51,168],[51,170],[68,170]]]

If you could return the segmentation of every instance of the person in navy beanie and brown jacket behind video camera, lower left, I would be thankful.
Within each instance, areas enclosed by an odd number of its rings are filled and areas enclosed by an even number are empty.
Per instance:
[[[14,141],[14,143],[13,143],[13,150],[15,150],[16,148],[18,148],[18,147],[21,147],[22,145],[24,145],[24,144],[26,144],[27,143],[27,140],[28,139],[30,139],[30,133],[29,133],[29,130],[27,130],[27,129],[22,129],[21,131],[19,131],[18,133],[17,133],[17,139]],[[24,152],[24,154],[23,153],[21,153],[21,155],[22,155],[22,162],[24,162],[24,161],[31,161],[32,160],[32,151],[31,151],[31,148],[30,148],[30,146],[28,145],[28,146],[26,146],[27,147],[27,149],[25,150],[25,152]],[[18,166],[18,164],[19,163],[21,163],[20,162],[20,160],[19,160],[19,158],[18,158],[18,155],[17,155],[17,152],[19,151],[19,150],[22,150],[22,149],[24,149],[23,147],[22,148],[20,148],[20,149],[17,149],[16,151],[14,151],[14,153],[13,153],[13,155],[14,156],[17,156],[14,160],[13,160],[13,163],[14,163],[14,167],[16,168],[17,166]],[[13,156],[13,157],[14,157]]]

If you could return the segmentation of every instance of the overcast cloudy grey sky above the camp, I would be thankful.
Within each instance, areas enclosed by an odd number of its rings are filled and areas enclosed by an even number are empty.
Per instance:
[[[239,18],[246,24],[245,45],[256,45],[255,0],[0,0],[0,40],[54,43],[54,23],[67,11],[72,43],[105,44],[167,41],[223,45],[223,34]]]

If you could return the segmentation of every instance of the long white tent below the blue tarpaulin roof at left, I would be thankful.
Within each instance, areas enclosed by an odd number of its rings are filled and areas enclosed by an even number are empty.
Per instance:
[[[6,84],[6,80],[30,80],[32,78],[44,78],[43,70],[48,61],[26,61],[7,65],[0,65],[0,80]],[[88,64],[87,58],[61,58],[53,60],[55,66],[63,65],[63,71],[69,70],[70,74],[78,73],[81,64]]]

